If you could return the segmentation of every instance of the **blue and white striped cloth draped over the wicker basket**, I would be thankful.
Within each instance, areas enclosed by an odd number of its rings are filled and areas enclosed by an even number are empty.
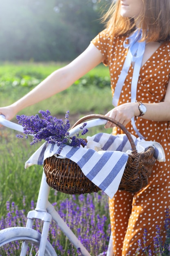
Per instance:
[[[144,141],[144,139],[132,136],[140,152],[145,151],[145,146],[155,147],[155,156],[159,161],[165,160],[163,148],[157,142]],[[85,148],[73,148],[64,146],[60,156],[76,162],[89,180],[102,189],[110,198],[113,198],[119,188],[122,175],[128,160],[131,146],[126,135],[109,135],[98,133],[87,137],[88,144]],[[146,144],[146,145],[145,145]],[[57,157],[60,148],[56,144],[44,143],[26,161],[25,168],[33,165],[42,165],[44,159],[55,155]],[[99,151],[96,151],[99,150]]]

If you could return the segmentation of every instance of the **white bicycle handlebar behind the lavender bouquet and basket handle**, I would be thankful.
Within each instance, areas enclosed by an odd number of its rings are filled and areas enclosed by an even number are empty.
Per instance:
[[[107,123],[107,120],[97,118],[97,119],[86,121],[86,123],[87,123],[87,125],[85,126],[85,128],[91,128],[94,126],[104,125]],[[2,124],[3,126],[5,126],[7,128],[24,133],[24,129],[20,124],[15,124],[11,121],[6,120],[4,115],[0,115],[0,124]],[[82,123],[82,124],[84,124],[84,123]],[[70,137],[72,137],[77,132],[79,132],[79,127],[82,126],[82,124],[78,124],[73,129],[69,130]]]

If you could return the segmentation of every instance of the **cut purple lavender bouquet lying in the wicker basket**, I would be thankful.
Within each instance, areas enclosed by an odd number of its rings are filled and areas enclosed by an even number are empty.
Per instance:
[[[30,143],[31,145],[44,139],[47,141],[47,143],[57,144],[57,146],[60,146],[61,150],[64,145],[69,145],[72,147],[80,147],[81,145],[86,145],[86,141],[80,138],[81,135],[85,135],[86,132],[88,132],[88,129],[84,128],[86,123],[84,123],[79,128],[79,132],[76,134],[76,136],[70,138],[68,132],[70,128],[70,123],[68,120],[69,111],[66,112],[65,121],[51,116],[49,110],[40,110],[39,113],[42,115],[42,118],[40,118],[38,114],[35,116],[16,116],[18,124],[22,125],[25,134],[25,136],[16,135],[17,137],[25,137],[27,139],[28,135],[33,135],[33,141]]]

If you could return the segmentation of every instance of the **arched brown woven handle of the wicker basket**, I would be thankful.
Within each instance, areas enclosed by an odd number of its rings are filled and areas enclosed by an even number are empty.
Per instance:
[[[104,119],[104,120],[107,120],[107,121],[110,121],[112,122],[113,124],[115,124],[116,126],[118,126],[125,134],[126,136],[128,137],[128,140],[130,142],[130,145],[132,147],[132,151],[133,152],[137,152],[136,150],[136,146],[135,146],[135,142],[133,141],[132,139],[132,136],[130,134],[130,132],[128,132],[128,130],[126,129],[126,127],[119,123],[117,120],[111,118],[111,117],[106,117],[104,115],[100,115],[100,114],[91,114],[91,115],[86,115],[82,118],[80,118],[73,126],[71,129],[73,129],[75,126],[77,126],[78,124],[82,124],[84,121],[88,120],[88,119],[93,119],[93,118],[99,118],[99,119]]]

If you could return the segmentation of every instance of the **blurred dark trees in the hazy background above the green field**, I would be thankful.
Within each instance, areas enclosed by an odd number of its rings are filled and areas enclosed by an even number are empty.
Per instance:
[[[111,0],[0,1],[1,61],[70,61],[104,26]]]

